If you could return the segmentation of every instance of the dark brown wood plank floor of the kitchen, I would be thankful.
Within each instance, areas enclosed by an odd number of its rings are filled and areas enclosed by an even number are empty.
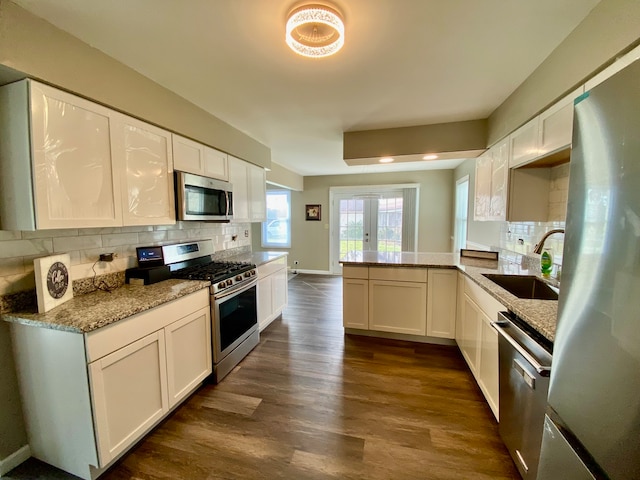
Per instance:
[[[341,280],[294,277],[260,345],[101,478],[518,479],[458,349],[345,336]]]

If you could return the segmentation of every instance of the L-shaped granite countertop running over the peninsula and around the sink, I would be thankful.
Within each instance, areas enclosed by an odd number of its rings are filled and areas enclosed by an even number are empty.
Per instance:
[[[496,262],[475,258],[460,258],[460,255],[454,253],[364,252],[362,258],[356,260],[343,259],[340,262],[343,265],[366,265],[370,267],[456,268],[544,338],[550,342],[555,339],[558,316],[557,300],[518,298],[482,275],[483,273],[536,275],[537,272],[530,271],[509,259],[501,258]],[[546,281],[546,279],[543,280]]]

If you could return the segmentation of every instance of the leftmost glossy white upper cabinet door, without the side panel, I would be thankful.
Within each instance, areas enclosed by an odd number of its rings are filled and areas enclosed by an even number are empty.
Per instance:
[[[122,225],[111,111],[31,82],[36,228]]]

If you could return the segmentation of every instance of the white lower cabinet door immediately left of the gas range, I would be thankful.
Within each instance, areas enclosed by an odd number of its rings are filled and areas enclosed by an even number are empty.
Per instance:
[[[203,308],[165,327],[169,408],[212,372],[211,310]]]

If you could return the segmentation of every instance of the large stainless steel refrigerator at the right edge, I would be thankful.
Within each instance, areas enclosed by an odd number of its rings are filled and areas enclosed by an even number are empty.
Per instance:
[[[538,480],[640,479],[640,62],[574,106]]]

